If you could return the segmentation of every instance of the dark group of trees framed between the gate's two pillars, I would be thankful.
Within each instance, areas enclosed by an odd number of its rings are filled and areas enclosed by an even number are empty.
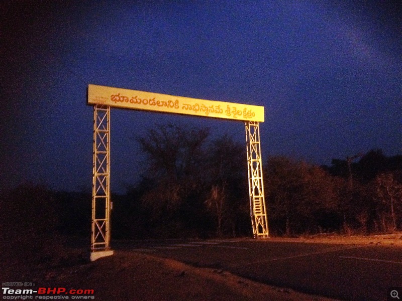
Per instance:
[[[244,145],[228,135],[212,139],[208,128],[172,124],[138,142],[142,180],[114,206],[115,237],[250,235]]]

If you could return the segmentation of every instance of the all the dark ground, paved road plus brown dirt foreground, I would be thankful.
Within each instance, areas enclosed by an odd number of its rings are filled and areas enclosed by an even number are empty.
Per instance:
[[[9,249],[1,281],[94,289],[96,300],[385,300],[402,283],[398,235],[113,241],[116,254],[94,262],[86,242],[67,240],[53,257]]]

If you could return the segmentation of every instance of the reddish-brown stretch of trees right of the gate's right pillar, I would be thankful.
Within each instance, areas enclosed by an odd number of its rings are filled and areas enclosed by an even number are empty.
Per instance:
[[[380,149],[315,166],[283,157],[264,168],[275,235],[388,233],[402,228],[402,156]]]

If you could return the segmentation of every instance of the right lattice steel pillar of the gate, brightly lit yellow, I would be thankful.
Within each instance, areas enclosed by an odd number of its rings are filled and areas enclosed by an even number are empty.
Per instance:
[[[250,215],[255,238],[269,236],[262,179],[261,145],[259,122],[246,121],[248,185]]]

